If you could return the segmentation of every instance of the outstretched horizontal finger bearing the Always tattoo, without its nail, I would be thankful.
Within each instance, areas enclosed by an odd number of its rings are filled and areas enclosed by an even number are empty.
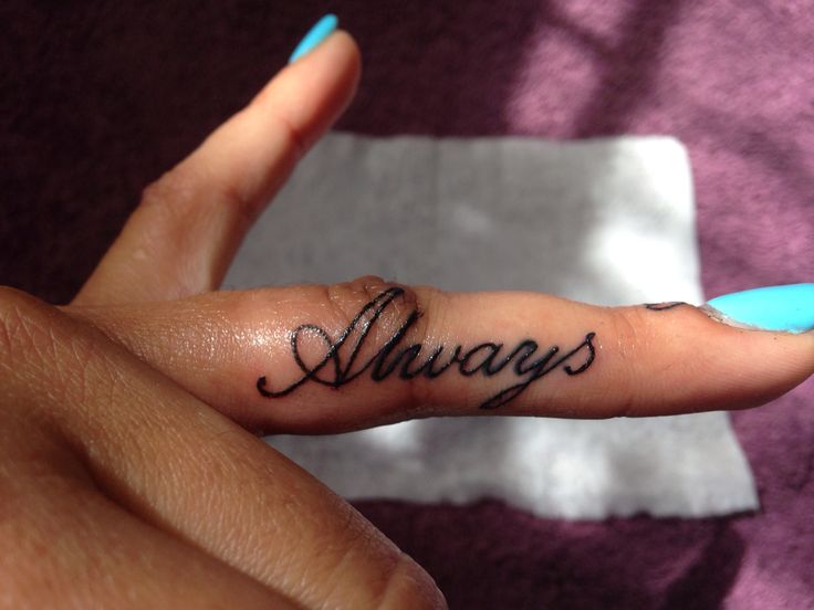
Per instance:
[[[686,304],[595,307],[377,277],[77,313],[232,419],[271,432],[734,409],[814,372],[814,334],[734,328]]]

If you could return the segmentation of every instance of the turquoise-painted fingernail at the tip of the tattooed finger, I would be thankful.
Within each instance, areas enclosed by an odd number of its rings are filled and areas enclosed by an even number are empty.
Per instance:
[[[702,307],[733,326],[807,333],[814,330],[814,284],[769,286],[711,299]]]

